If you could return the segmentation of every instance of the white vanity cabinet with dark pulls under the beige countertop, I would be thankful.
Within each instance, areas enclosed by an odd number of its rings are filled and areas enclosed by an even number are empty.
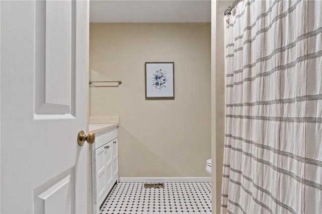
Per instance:
[[[117,127],[96,133],[91,150],[92,210],[100,213],[100,206],[118,182]]]

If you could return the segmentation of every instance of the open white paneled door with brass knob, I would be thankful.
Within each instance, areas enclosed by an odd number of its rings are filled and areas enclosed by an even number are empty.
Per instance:
[[[1,1],[1,213],[86,213],[87,1]]]

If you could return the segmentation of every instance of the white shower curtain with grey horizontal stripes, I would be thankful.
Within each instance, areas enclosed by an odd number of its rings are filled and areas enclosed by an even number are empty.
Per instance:
[[[225,31],[221,213],[322,213],[322,1],[245,0]]]

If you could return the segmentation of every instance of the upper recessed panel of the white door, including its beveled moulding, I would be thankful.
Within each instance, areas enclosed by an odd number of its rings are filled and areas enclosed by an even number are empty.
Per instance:
[[[75,2],[35,2],[35,118],[75,106]],[[59,15],[57,16],[57,12]]]

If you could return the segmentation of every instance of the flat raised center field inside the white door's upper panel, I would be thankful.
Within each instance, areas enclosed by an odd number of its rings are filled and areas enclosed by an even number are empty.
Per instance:
[[[38,2],[36,2],[38,4]],[[75,3],[46,2],[46,103],[70,105]],[[59,11],[59,16],[57,12]]]

